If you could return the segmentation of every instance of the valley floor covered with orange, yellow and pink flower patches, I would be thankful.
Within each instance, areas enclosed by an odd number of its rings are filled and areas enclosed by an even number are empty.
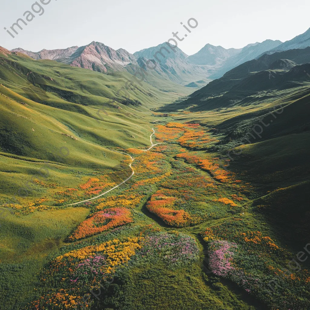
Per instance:
[[[114,149],[118,171],[2,206],[3,309],[307,309],[308,269],[282,275],[262,193],[206,151],[206,128],[157,116],[150,148]]]

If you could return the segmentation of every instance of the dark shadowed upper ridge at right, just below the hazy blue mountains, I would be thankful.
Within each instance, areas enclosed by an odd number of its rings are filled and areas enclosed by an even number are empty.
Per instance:
[[[288,87],[290,78],[291,81],[308,81],[308,76],[303,72],[309,70],[308,63],[310,63],[310,47],[276,52],[272,55],[264,54],[259,59],[247,61],[233,68],[223,77],[195,91],[187,101],[190,105],[209,98],[212,104],[225,104],[238,99],[240,95],[244,97],[246,91],[268,90],[280,87],[281,83],[286,83],[285,87]],[[240,91],[242,93],[239,93]],[[212,104],[210,107],[214,108]]]

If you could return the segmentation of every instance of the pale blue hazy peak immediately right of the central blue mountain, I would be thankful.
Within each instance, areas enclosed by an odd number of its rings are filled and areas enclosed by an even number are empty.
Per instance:
[[[238,54],[242,49],[225,49],[221,46],[206,44],[199,52],[188,56],[187,62],[201,65],[221,65],[228,58]]]

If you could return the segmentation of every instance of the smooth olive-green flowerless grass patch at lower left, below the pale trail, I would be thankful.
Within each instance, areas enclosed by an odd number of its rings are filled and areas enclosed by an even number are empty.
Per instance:
[[[24,218],[7,215],[0,219],[0,289],[5,292],[0,298],[0,309],[17,309],[16,292],[22,299],[35,292],[39,268],[88,213],[86,208],[69,207]]]

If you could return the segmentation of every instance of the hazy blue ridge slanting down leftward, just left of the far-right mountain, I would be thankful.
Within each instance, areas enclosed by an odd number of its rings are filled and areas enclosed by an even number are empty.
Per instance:
[[[220,78],[227,71],[232,68],[237,67],[240,64],[245,63],[246,61],[253,60],[257,56],[261,55],[265,51],[277,47],[281,44],[281,41],[265,40],[261,43],[256,42],[254,44],[248,44],[246,47],[243,47],[241,52],[235,56],[228,58],[222,65],[219,70],[216,70],[211,78]]]

